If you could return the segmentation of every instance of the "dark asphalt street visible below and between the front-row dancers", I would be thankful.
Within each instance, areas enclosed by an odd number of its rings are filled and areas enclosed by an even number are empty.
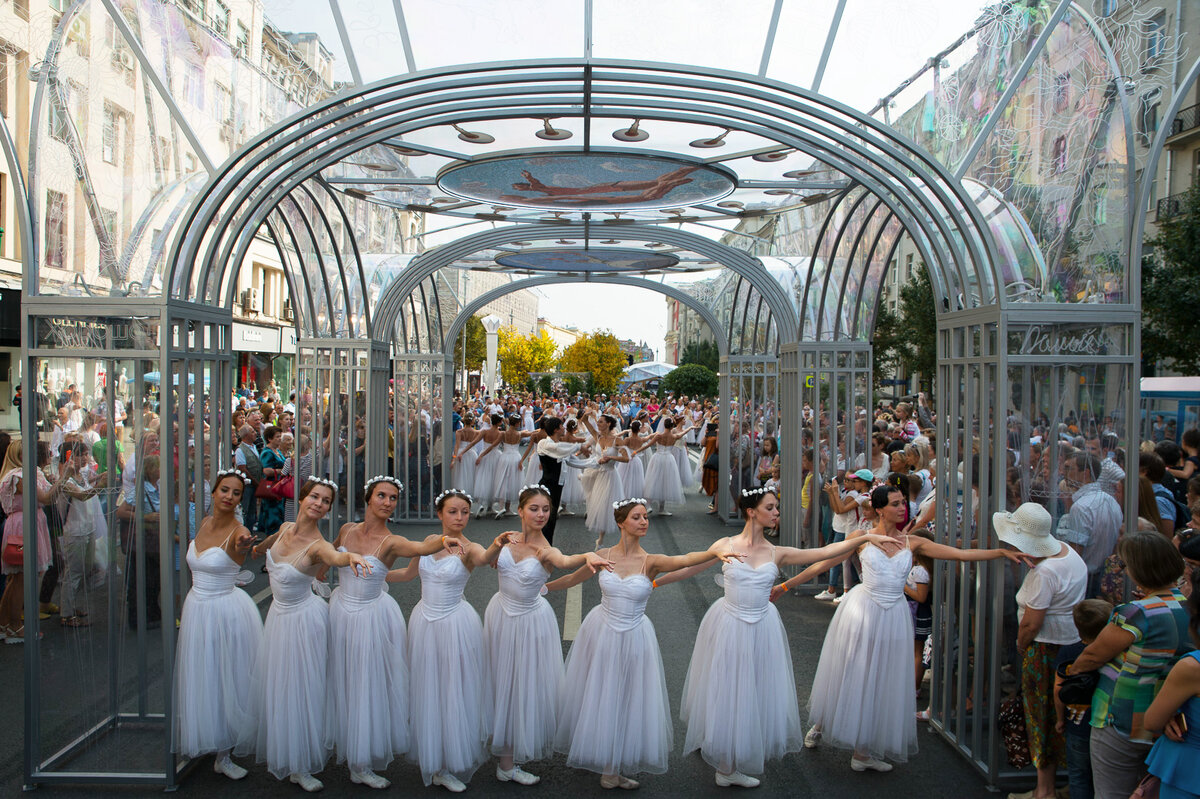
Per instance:
[[[686,511],[676,513],[671,518],[653,518],[650,533],[647,536],[647,548],[668,553],[700,549],[726,533],[726,529],[712,517],[706,516],[704,501],[702,498],[692,495],[689,498]],[[511,519],[504,521],[474,521],[468,528],[468,533],[476,541],[487,541],[496,533],[511,528]],[[730,528],[732,530],[732,528]],[[557,542],[565,552],[578,552],[589,547],[590,536],[583,528],[582,516],[565,518],[559,527],[560,534]],[[426,530],[408,528],[410,535],[424,534]],[[265,614],[269,599],[265,596],[265,575],[258,575],[256,569],[256,581],[248,590],[259,595],[263,594],[260,607]],[[392,585],[392,594],[400,601],[407,618],[420,594],[419,582],[410,584]],[[467,588],[470,602],[482,612],[487,600],[496,591],[496,573],[491,570],[476,571]],[[650,599],[648,614],[653,620],[659,641],[662,648],[662,659],[667,672],[667,689],[671,697],[672,709],[678,714],[679,697],[683,689],[684,675],[688,669],[688,661],[691,656],[692,642],[700,620],[709,603],[720,595],[720,589],[712,578],[712,572],[706,572],[700,577],[665,587],[655,591]],[[566,633],[572,629],[571,621],[577,624],[576,612],[587,613],[599,601],[599,588],[595,581],[586,583],[581,589],[572,593],[553,593],[550,595],[551,603],[558,613],[559,621],[566,617]],[[574,606],[574,607],[572,607]],[[797,677],[799,699],[803,705],[808,701],[811,677],[816,669],[821,643],[826,626],[833,614],[833,607],[821,603],[808,596],[787,595],[780,603],[784,623],[787,626],[792,645],[792,657]],[[71,725],[72,732],[79,732],[85,723],[79,721],[90,713],[96,713],[83,699],[86,691],[80,691],[80,686],[95,684],[97,677],[106,673],[107,666],[100,656],[100,647],[107,633],[97,624],[89,630],[72,632],[67,637],[66,631],[59,627],[52,619],[46,625],[46,657],[43,667],[43,690],[47,691],[47,704],[50,705],[43,715],[42,739],[46,751],[61,746],[67,739],[61,729],[66,723]],[[127,633],[121,633],[126,636]],[[132,668],[127,662],[132,659],[132,636],[121,638],[124,656],[121,657],[122,673]],[[157,642],[155,637],[152,641]],[[564,653],[569,647],[564,642]],[[20,693],[23,681],[22,647],[0,647],[0,673],[6,679],[0,684],[0,707],[5,709],[5,723],[0,726],[0,795],[16,795],[20,789],[20,752],[23,741],[23,726],[20,717]],[[151,696],[155,691],[161,692],[161,687],[152,686]],[[77,691],[79,691],[77,693]],[[61,703],[53,702],[56,692],[61,692],[65,698]],[[70,698],[78,696],[78,699]],[[85,709],[83,713],[72,713],[73,705],[80,704]],[[110,764],[114,759],[128,763],[146,762],[158,751],[161,744],[152,744],[155,749],[149,749],[145,741],[154,741],[154,738],[142,739],[146,733],[137,731],[122,731],[118,733],[124,738],[118,741],[118,751],[114,755],[112,746],[106,746],[102,751],[85,753],[79,768],[96,768],[102,763]],[[665,775],[643,775],[642,795],[722,795],[728,797],[737,793],[736,788],[718,788],[713,785],[712,769],[692,755],[682,757],[678,753],[683,741],[684,728],[676,720],[676,749],[671,759],[670,771]],[[84,762],[89,759],[95,763]],[[872,793],[883,793],[892,797],[920,797],[922,799],[934,799],[937,797],[954,799],[973,799],[995,795],[991,794],[982,777],[970,768],[953,750],[942,741],[940,737],[922,729],[920,752],[913,761],[905,765],[899,765],[892,774],[857,774],[850,769],[850,755],[840,750],[828,747],[816,751],[803,751],[790,755],[782,761],[768,764],[763,775],[763,785],[754,792],[757,797],[820,797],[822,799],[836,799],[839,797],[857,798]],[[216,776],[211,771],[211,759],[205,758],[199,767],[186,779],[180,788],[180,795],[187,797],[275,797],[275,795],[301,795],[299,788],[288,783],[278,783],[271,777],[264,765],[252,765],[246,758],[241,759],[246,765],[251,765],[250,776],[240,783],[232,783],[224,777]],[[486,764],[475,775],[469,786],[469,795],[562,795],[571,793],[575,795],[598,795],[606,793],[599,787],[599,779],[583,771],[566,768],[562,757],[556,757],[552,762],[534,763],[529,770],[540,774],[542,782],[535,788],[522,788],[515,783],[499,783],[493,776],[494,762]],[[343,767],[330,767],[320,775],[325,781],[324,795],[367,795],[367,788],[352,785],[349,775]],[[386,770],[386,776],[395,787],[401,789],[421,791],[420,774],[418,769],[407,762],[392,763]],[[46,797],[84,797],[84,795],[113,795],[122,797],[134,793],[148,793],[152,789],[107,789],[95,788],[66,788],[43,787],[38,795]],[[440,792],[440,788],[430,788],[431,792]]]

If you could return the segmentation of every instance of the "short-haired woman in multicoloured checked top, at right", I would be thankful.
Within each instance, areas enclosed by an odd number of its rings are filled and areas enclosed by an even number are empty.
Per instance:
[[[1154,734],[1146,727],[1162,680],[1192,644],[1177,588],[1183,557],[1160,533],[1121,539],[1117,553],[1141,599],[1118,605],[1109,624],[1075,659],[1070,673],[1099,669],[1092,695],[1092,782],[1097,799],[1126,799],[1146,771]]]

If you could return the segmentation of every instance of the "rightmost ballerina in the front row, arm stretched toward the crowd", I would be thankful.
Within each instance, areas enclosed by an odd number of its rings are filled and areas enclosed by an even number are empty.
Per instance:
[[[1033,565],[1030,555],[1006,549],[959,549],[929,539],[900,533],[907,503],[899,488],[880,486],[871,492],[880,521],[872,533],[882,543],[863,543],[864,531],[847,539],[859,547],[862,582],[846,591],[826,632],[824,645],[809,699],[804,746],[821,740],[853,750],[856,771],[890,771],[889,758],[905,762],[917,751],[916,695],[912,685],[912,614],[904,587],[916,554],[942,560],[996,560]],[[811,579],[850,554],[805,569],[776,589]],[[773,591],[774,593],[774,591]]]

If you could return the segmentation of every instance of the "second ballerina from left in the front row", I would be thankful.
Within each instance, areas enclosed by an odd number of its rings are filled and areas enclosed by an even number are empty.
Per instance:
[[[266,552],[271,609],[254,671],[254,709],[259,717],[258,759],[276,779],[312,793],[324,786],[313,776],[325,768],[325,692],[329,662],[329,606],[314,594],[317,571],[349,567],[367,575],[371,564],[353,552],[337,552],[322,537],[318,522],[334,506],[336,488],[308,480],[300,489],[296,521],[251,552]]]

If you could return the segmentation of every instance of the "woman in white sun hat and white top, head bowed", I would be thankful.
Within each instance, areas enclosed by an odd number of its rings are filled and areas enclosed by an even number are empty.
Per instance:
[[[1016,591],[1016,650],[1021,653],[1021,702],[1030,756],[1038,783],[1010,799],[1051,799],[1055,771],[1066,765],[1062,733],[1055,729],[1054,678],[1058,648],[1079,641],[1072,612],[1087,591],[1087,564],[1050,534],[1054,521],[1037,503],[991,517],[996,536],[1034,559]]]

